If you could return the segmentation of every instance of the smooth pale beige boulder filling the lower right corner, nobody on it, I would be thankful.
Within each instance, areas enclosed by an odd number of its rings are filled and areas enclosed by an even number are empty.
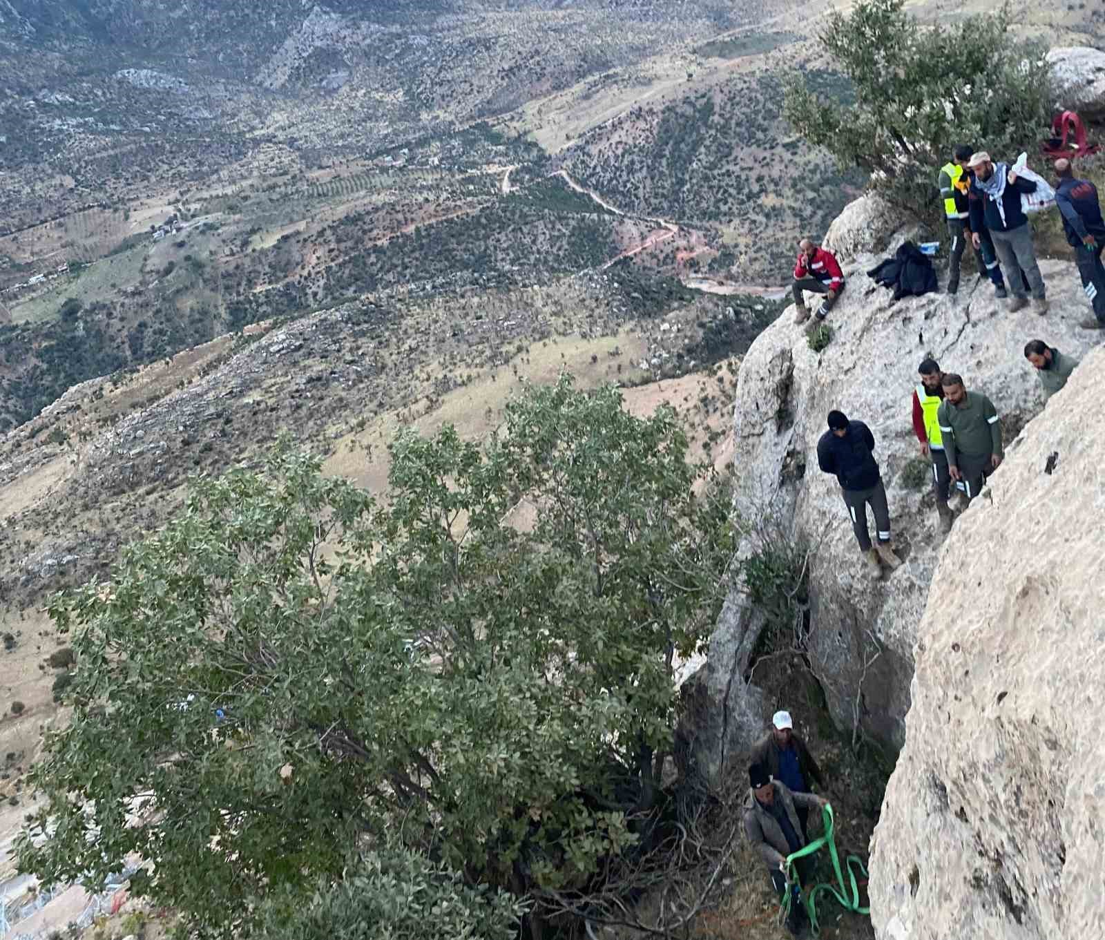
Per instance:
[[[880,940],[1105,937],[1103,387],[1098,348],[940,552],[872,839]]]

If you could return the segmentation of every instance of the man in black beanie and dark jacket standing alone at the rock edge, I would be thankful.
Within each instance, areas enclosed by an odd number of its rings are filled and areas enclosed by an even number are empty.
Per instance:
[[[880,562],[891,569],[902,563],[891,546],[891,510],[886,488],[874,458],[875,437],[862,421],[849,421],[840,411],[829,412],[829,430],[818,441],[818,466],[836,475],[844,494],[844,505],[852,518],[852,531],[872,572],[882,574]],[[871,546],[867,532],[867,504],[875,514],[877,541]]]

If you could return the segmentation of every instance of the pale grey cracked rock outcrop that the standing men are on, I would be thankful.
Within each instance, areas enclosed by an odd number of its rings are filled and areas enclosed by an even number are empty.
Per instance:
[[[1088,306],[1071,263],[1041,262],[1052,311],[1040,317],[1031,308],[1010,314],[1008,302],[996,300],[990,284],[968,267],[956,298],[930,294],[892,306],[891,292],[864,274],[877,260],[860,255],[845,265],[848,288],[829,318],[834,336],[820,353],[793,324],[793,307],[748,350],[734,414],[734,476],[745,519],[774,513],[786,531],[814,547],[804,643],[834,720],[849,729],[859,722],[897,749],[905,740],[917,625],[941,547],[930,469],[917,462],[911,423],[917,366],[933,355],[945,371],[962,373],[968,389],[989,394],[1007,447],[1015,450],[1010,442],[1043,404],[1024,344],[1040,338],[1080,357],[1099,335],[1077,326]],[[866,422],[876,440],[894,541],[905,560],[882,581],[863,567],[835,477],[818,468],[817,443],[832,409]],[[966,518],[988,508],[987,499],[976,500]],[[871,526],[873,532],[873,519]],[[746,680],[761,626],[743,594],[730,596],[706,665],[684,686],[696,716],[691,758],[707,779],[737,768],[727,764],[744,761],[771,711],[787,705],[765,701]]]

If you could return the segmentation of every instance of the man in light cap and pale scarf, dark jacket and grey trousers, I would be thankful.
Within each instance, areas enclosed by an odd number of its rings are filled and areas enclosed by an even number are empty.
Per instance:
[[[1004,163],[994,163],[986,150],[975,154],[968,166],[975,171],[969,200],[971,243],[979,247],[979,232],[985,225],[998,260],[1009,275],[1009,288],[1013,292],[1010,310],[1023,309],[1029,303],[1024,286],[1014,273],[1019,265],[1032,288],[1033,308],[1038,314],[1046,314],[1048,292],[1032,246],[1029,216],[1021,208],[1021,194],[1035,192],[1036,184],[1021,179]]]

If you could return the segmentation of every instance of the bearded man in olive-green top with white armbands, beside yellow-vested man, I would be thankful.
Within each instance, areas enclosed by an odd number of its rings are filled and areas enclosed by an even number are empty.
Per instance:
[[[948,474],[970,503],[1001,463],[1001,419],[982,392],[967,393],[961,376],[945,372],[940,385],[944,404],[936,419],[948,457]]]

